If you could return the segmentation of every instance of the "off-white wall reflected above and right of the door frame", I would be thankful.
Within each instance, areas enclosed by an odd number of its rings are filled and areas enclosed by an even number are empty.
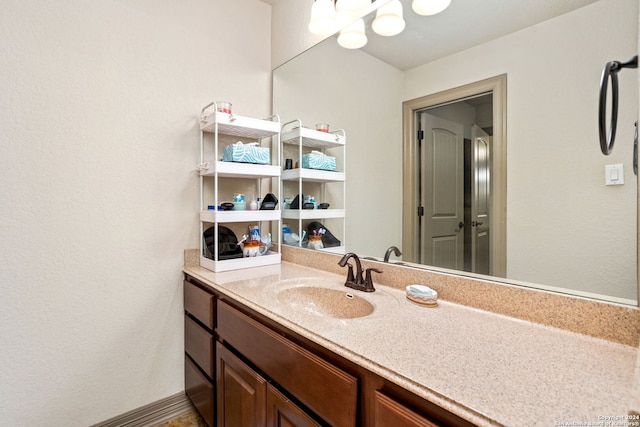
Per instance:
[[[637,17],[637,1],[601,0],[405,72],[403,99],[507,74],[509,278],[636,299],[638,111],[620,109],[616,147],[605,157],[597,102],[605,62],[638,52]],[[637,78],[626,71],[619,79],[625,105]],[[616,163],[626,184],[606,187],[604,166]]]

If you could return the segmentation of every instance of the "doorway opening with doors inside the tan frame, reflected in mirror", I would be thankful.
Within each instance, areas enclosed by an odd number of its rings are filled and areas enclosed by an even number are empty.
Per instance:
[[[478,274],[493,270],[492,113],[491,93],[414,112],[420,237],[417,254],[407,253],[405,261]]]

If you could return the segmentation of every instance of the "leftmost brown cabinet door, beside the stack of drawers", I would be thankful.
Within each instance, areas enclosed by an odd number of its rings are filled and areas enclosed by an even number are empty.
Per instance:
[[[267,382],[220,343],[216,343],[219,427],[266,424]]]

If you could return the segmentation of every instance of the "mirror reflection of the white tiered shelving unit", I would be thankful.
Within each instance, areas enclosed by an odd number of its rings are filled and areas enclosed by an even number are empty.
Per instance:
[[[282,209],[282,218],[289,220],[287,224],[299,237],[287,243],[307,247],[307,227],[320,223],[330,230],[335,240],[323,237],[324,247],[316,250],[343,254],[346,250],[345,131],[319,131],[302,126],[301,120],[293,120],[282,126],[281,141],[280,163],[287,164],[285,159],[291,159],[289,163],[296,165],[281,173],[283,195],[289,201],[299,196],[297,207],[283,206]],[[310,203],[304,196],[314,196],[315,201]],[[327,203],[329,208],[319,209],[321,203]],[[313,209],[305,209],[309,205]]]

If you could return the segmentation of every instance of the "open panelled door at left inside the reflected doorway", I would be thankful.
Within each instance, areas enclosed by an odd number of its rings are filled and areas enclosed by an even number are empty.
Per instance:
[[[463,126],[421,112],[420,262],[461,270],[464,258]]]

